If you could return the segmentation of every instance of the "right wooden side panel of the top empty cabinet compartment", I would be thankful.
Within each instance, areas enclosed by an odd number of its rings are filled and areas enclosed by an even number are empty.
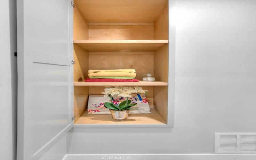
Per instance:
[[[167,40],[169,38],[169,16],[168,16],[168,3],[154,22],[154,39]]]

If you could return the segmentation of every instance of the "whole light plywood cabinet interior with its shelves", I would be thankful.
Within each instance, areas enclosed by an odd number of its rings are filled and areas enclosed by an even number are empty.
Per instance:
[[[167,0],[75,0],[74,114],[75,127],[98,124],[164,125],[168,117],[169,8]],[[156,75],[156,82],[89,83],[89,69],[136,70]],[[142,86],[149,92],[150,114],[115,122],[110,115],[87,115],[89,95],[105,85]]]

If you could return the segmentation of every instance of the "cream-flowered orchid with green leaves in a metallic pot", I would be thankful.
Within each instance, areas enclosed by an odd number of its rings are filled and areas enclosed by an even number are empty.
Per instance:
[[[111,112],[112,118],[122,121],[126,119],[129,115],[129,111],[131,109],[138,109],[132,108],[136,106],[137,103],[131,103],[132,101],[129,100],[129,97],[132,97],[132,93],[147,93],[148,90],[143,90],[141,87],[123,87],[123,86],[108,86],[108,88],[104,89],[105,92],[101,92],[104,94],[104,97],[109,97],[111,102],[105,102],[104,105],[108,108]],[[113,96],[120,96],[126,98],[125,101],[121,102],[120,104],[113,103]]]

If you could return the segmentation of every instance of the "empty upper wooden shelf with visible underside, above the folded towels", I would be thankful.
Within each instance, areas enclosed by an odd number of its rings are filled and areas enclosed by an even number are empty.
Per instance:
[[[97,51],[155,51],[168,40],[74,40],[74,43],[89,52]]]

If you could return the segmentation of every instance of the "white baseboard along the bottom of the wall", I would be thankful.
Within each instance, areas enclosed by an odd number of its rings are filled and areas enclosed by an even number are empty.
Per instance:
[[[256,154],[67,154],[62,160],[255,160]]]

